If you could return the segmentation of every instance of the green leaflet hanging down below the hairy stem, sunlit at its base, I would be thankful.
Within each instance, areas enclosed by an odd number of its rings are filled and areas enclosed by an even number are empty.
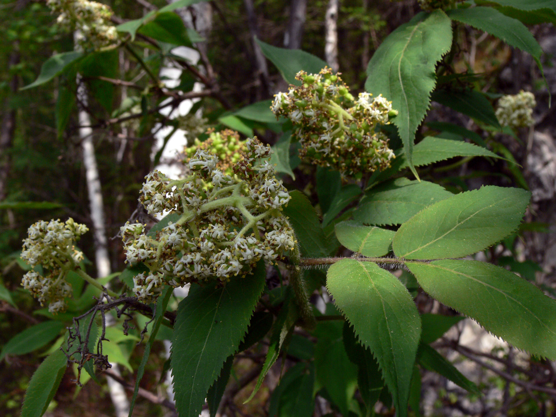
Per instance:
[[[345,259],[330,267],[326,286],[383,371],[396,411],[407,415],[421,333],[419,312],[403,284],[373,262]]]

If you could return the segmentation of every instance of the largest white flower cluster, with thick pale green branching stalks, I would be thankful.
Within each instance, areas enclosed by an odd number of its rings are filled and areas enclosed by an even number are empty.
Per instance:
[[[291,197],[274,167],[261,163],[269,155],[270,147],[253,138],[233,176],[217,168],[219,158],[208,150],[195,153],[184,180],[169,180],[158,171],[147,175],[140,197],[146,210],[167,210],[180,219],[156,233],[145,234],[138,223],[121,228],[127,262],[149,269],[133,279],[138,299],[153,300],[162,285],[225,284],[246,275],[257,261],[274,262],[294,248],[294,231],[281,214]]]

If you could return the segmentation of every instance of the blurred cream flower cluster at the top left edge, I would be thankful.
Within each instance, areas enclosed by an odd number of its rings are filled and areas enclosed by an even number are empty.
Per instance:
[[[110,22],[112,11],[106,4],[88,0],[48,0],[47,4],[58,13],[61,27],[81,32],[83,48],[99,49],[116,41],[118,33]]]

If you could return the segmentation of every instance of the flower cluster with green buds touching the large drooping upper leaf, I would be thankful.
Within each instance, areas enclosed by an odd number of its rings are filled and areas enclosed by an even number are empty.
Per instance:
[[[278,93],[271,109],[294,123],[301,158],[348,176],[390,166],[394,152],[377,127],[388,124],[389,117],[396,114],[391,102],[366,92],[355,99],[329,68],[319,74],[300,71],[295,78],[301,86]]]

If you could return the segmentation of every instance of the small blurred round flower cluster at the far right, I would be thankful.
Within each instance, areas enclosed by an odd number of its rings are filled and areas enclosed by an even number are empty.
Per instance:
[[[533,93],[520,91],[516,95],[500,97],[496,117],[502,126],[512,128],[533,126],[533,108],[537,106]]]

